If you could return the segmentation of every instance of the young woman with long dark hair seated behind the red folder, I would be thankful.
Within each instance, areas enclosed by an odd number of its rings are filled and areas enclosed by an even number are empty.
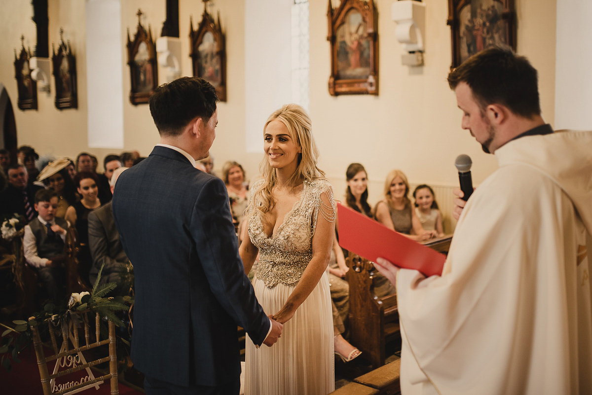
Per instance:
[[[352,163],[345,171],[345,179],[348,187],[345,190],[345,204],[350,209],[372,218],[372,209],[368,204],[368,174],[359,163]],[[372,279],[374,294],[378,297],[397,293],[395,286],[387,280],[387,277],[376,273]]]

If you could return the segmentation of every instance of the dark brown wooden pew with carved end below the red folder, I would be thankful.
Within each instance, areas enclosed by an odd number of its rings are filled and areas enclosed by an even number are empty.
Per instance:
[[[451,240],[452,236],[448,235],[423,244],[436,251],[446,252]],[[372,280],[378,271],[372,262],[350,253],[346,263],[350,268],[347,274],[350,342],[364,353],[362,357],[376,369],[384,365],[387,342],[401,339],[397,296],[376,296]]]

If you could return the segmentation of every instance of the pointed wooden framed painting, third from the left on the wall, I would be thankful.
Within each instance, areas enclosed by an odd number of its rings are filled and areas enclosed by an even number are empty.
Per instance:
[[[127,64],[130,66],[130,102],[133,105],[145,104],[158,86],[156,67],[156,46],[152,31],[146,31],[140,22],[142,12],[138,10],[138,25],[134,40],[130,40],[127,30]]]

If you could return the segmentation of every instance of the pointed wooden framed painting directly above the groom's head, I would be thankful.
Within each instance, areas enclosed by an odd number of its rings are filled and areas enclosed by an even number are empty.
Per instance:
[[[207,4],[207,2],[204,2]],[[193,75],[211,83],[216,89],[218,100],[226,102],[226,44],[218,21],[205,9],[197,30],[193,30],[193,21],[189,20],[189,56]]]

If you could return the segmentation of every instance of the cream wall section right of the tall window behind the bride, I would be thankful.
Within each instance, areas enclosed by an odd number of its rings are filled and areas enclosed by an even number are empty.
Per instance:
[[[555,0],[517,1],[518,52],[539,70],[542,111],[554,121]],[[448,4],[426,4],[425,64],[401,65],[401,44],[391,20],[392,0],[375,0],[378,9],[379,96],[330,96],[327,1],[310,2],[310,112],[327,172],[336,196],[345,190],[349,163],[362,163],[369,176],[369,201],[381,199],[384,177],[401,169],[411,183],[458,184],[453,166],[458,154],[473,160],[475,184],[497,169],[493,156],[481,151],[461,129],[461,111],[446,77],[451,65],[451,34],[446,25]]]

